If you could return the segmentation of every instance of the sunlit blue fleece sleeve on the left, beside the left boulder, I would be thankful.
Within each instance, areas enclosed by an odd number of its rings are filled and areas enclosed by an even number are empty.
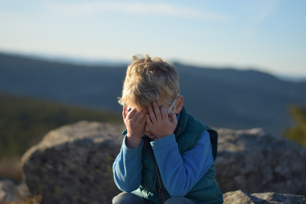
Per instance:
[[[120,153],[113,164],[114,181],[121,191],[131,192],[136,190],[141,183],[142,147],[130,149],[125,145],[126,135],[123,139]]]

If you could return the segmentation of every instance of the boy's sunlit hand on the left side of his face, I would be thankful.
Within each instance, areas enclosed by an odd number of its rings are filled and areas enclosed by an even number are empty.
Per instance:
[[[127,130],[128,137],[140,138],[144,134],[144,126],[146,124],[146,113],[137,112],[136,108],[127,112],[128,108],[123,107],[123,119]],[[126,114],[127,113],[127,114]]]

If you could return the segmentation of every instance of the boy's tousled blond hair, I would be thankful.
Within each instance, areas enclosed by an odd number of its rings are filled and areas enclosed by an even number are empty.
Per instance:
[[[118,98],[119,104],[136,107],[139,112],[160,100],[171,105],[180,92],[174,65],[160,57],[151,59],[147,54],[145,57],[133,56],[132,59],[133,62],[126,70],[122,97]]]

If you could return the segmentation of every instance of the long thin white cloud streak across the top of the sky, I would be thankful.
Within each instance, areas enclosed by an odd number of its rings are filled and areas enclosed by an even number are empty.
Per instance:
[[[224,21],[218,13],[205,13],[192,7],[176,6],[164,2],[45,2],[47,9],[55,12],[82,15],[92,12],[120,12],[148,16],[190,18],[202,21]]]

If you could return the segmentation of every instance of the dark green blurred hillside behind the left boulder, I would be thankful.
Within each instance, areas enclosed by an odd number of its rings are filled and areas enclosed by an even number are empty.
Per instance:
[[[122,116],[54,102],[0,95],[0,159],[21,157],[49,130],[80,120],[121,123]]]

